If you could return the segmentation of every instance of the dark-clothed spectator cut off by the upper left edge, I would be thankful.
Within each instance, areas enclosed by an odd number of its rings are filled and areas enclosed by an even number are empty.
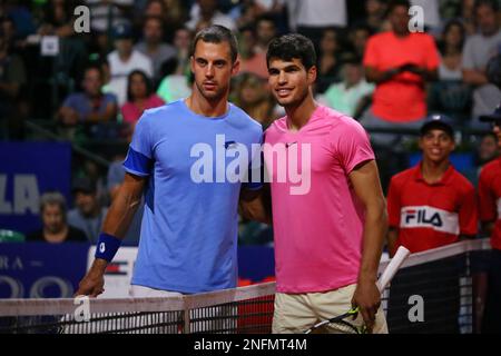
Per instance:
[[[7,139],[13,131],[20,131],[22,123],[19,99],[27,82],[24,63],[11,52],[11,42],[6,38],[3,21],[0,27],[0,139]],[[17,134],[13,136],[18,136]]]

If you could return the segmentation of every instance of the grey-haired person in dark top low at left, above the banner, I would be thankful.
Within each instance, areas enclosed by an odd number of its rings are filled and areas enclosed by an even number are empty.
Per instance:
[[[69,226],[66,219],[66,199],[58,192],[46,192],[40,197],[42,228],[28,234],[27,241],[59,244],[65,241],[87,241],[82,230]]]

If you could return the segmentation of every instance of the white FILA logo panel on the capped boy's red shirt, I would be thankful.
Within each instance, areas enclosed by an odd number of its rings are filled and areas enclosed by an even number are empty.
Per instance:
[[[430,206],[403,207],[400,216],[401,228],[431,228],[459,235],[459,216]]]

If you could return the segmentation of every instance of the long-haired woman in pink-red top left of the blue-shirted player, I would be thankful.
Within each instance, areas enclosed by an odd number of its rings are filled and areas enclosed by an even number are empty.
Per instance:
[[[124,122],[135,126],[146,109],[157,108],[165,103],[153,90],[151,80],[141,70],[129,75],[127,85],[127,102],[121,107]]]

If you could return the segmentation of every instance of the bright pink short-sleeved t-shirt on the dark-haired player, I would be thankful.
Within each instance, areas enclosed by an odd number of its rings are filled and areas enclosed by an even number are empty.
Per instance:
[[[273,122],[265,132],[264,157],[272,187],[277,291],[325,291],[356,283],[364,208],[348,174],[374,159],[364,128],[318,106],[296,132],[288,130],[286,117]]]

